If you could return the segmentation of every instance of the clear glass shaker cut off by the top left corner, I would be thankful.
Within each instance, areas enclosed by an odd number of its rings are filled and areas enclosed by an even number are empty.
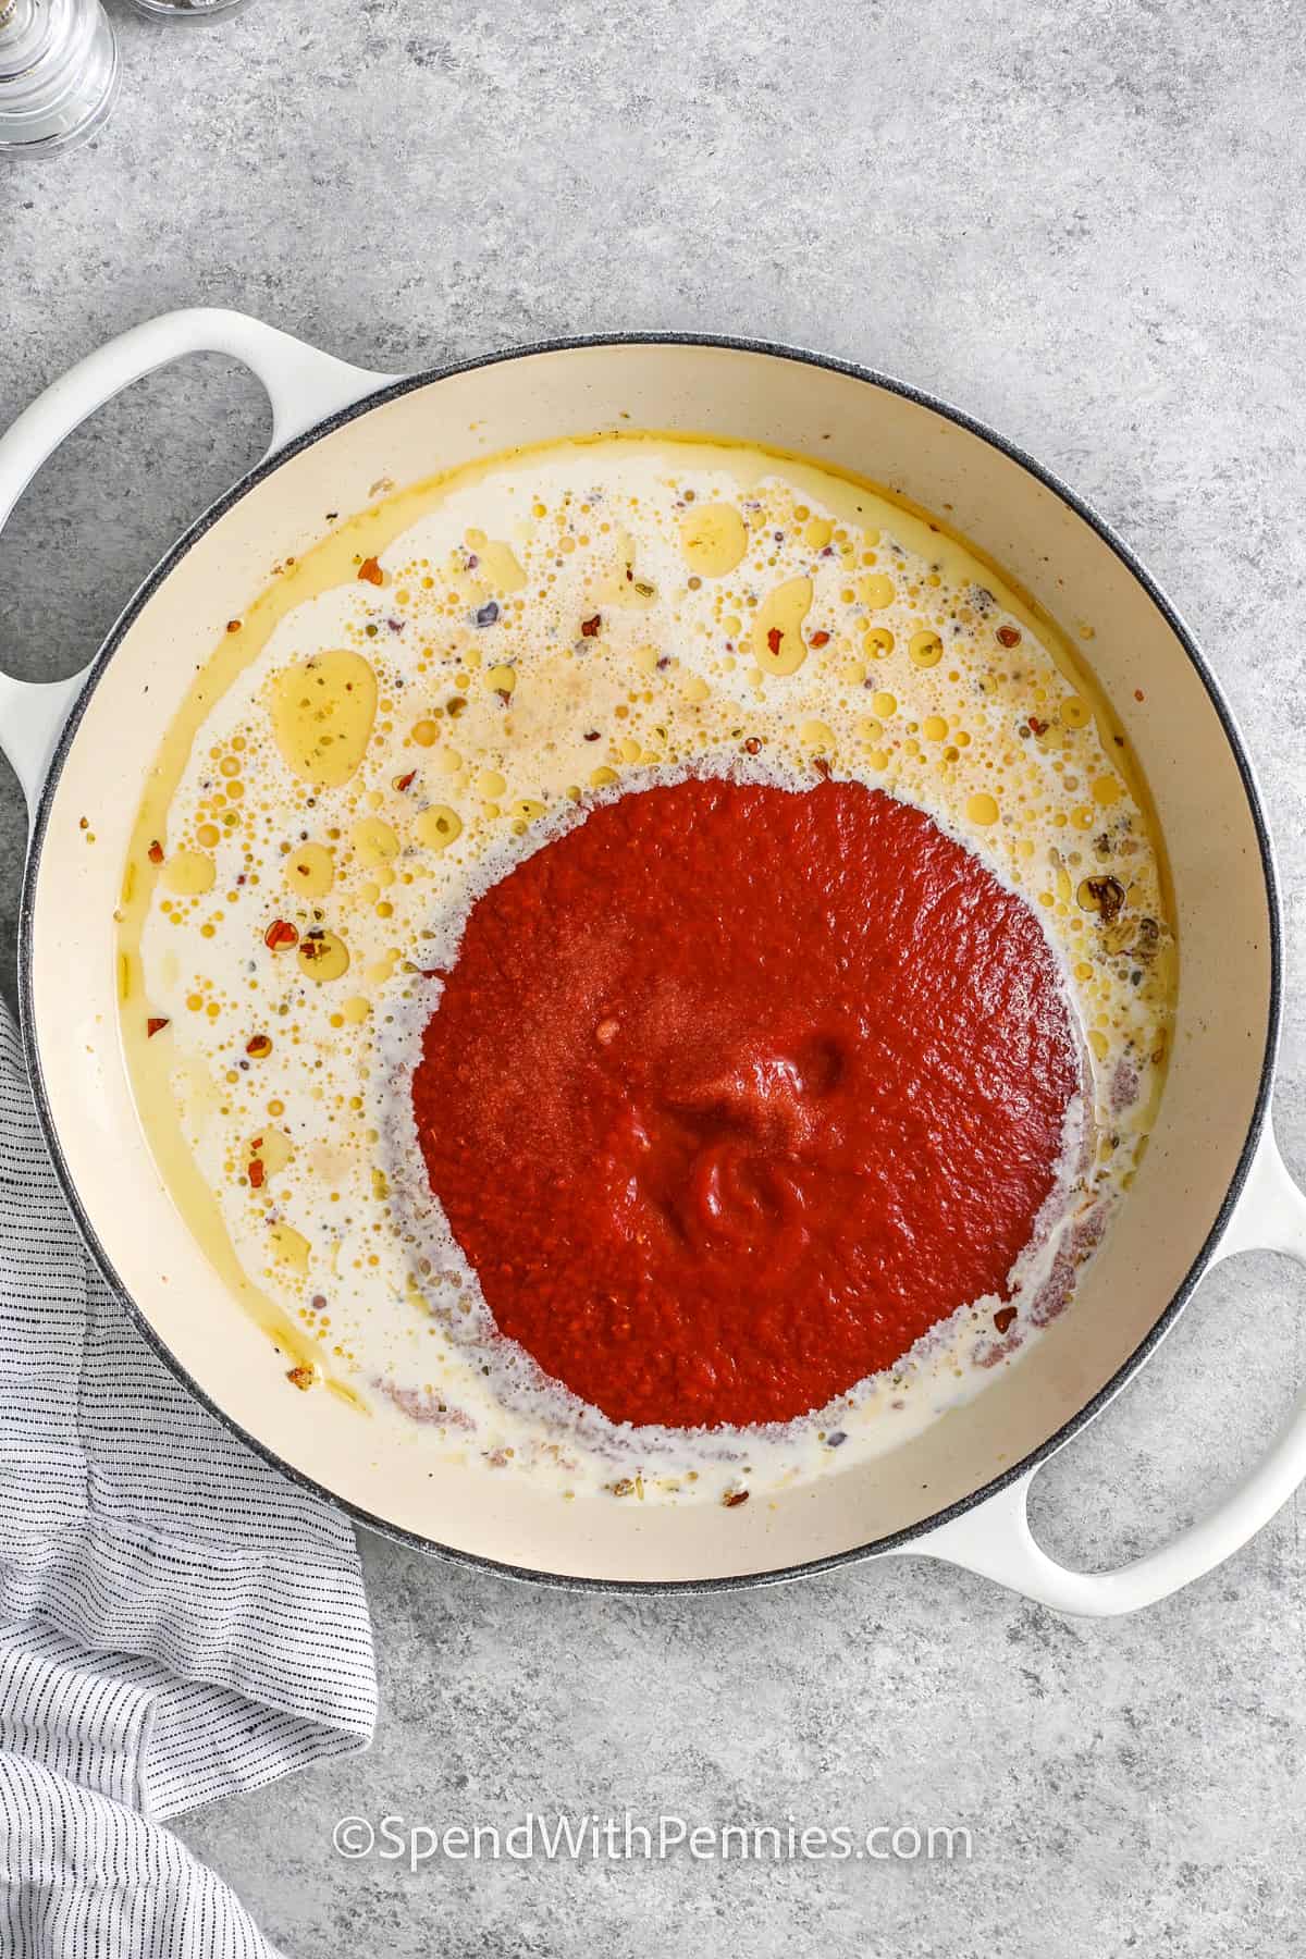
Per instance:
[[[74,149],[116,96],[117,43],[100,0],[0,0],[0,163]]]

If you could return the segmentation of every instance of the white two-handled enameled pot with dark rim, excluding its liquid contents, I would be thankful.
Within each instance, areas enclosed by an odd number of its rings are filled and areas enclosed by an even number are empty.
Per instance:
[[[1306,1475],[1306,1399],[1210,1516],[1120,1571],[1063,1569],[1026,1522],[1038,1465],[1147,1360],[1216,1260],[1251,1246],[1306,1260],[1306,1199],[1269,1123],[1281,946],[1255,782],[1210,670],[1128,549],[993,431],[795,349],[638,335],[396,378],[211,310],[125,333],[20,417],[0,439],[0,523],[78,421],[196,351],[233,355],[262,380],[268,456],[178,541],[84,674],[0,680],[0,742],[31,807],[20,993],[41,1121],[96,1260],[176,1373],[268,1459],[362,1522],[562,1585],[713,1589],[909,1553],[1067,1612],[1108,1614],[1165,1597],[1245,1544]],[[325,509],[364,507],[380,478],[401,486],[603,427],[742,437],[869,476],[948,511],[1055,619],[1091,621],[1093,664],[1151,786],[1175,884],[1181,997],[1161,1119],[1073,1311],[1020,1365],[895,1454],[732,1510],[564,1505],[525,1477],[433,1459],[331,1397],[288,1391],[266,1336],[168,1199],[117,1032],[114,907],[143,776],[268,566],[302,554]]]

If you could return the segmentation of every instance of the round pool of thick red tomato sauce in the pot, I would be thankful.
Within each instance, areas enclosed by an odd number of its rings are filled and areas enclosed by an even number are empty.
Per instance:
[[[1079,1056],[1028,905],[850,782],[625,795],[472,907],[431,1187],[499,1332],[615,1422],[783,1422],[1004,1297]]]

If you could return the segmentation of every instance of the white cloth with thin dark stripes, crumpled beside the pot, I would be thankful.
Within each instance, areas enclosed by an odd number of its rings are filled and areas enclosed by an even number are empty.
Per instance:
[[[272,1959],[161,1822],[374,1720],[352,1530],[94,1271],[0,1007],[0,1953]]]

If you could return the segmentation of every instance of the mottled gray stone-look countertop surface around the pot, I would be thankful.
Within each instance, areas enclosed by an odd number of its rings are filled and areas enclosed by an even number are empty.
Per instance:
[[[611,327],[760,333],[963,404],[1122,529],[1230,690],[1283,854],[1279,1128],[1306,1171],[1294,0],[255,0],[225,25],[116,20],[106,133],[0,176],[0,419],[192,302],[386,368]],[[215,358],[76,435],[0,545],[0,666],[86,660],[264,435],[257,386]],[[8,782],[2,817],[8,931]],[[1157,1544],[1251,1459],[1306,1373],[1302,1283],[1271,1258],[1206,1283],[1042,1475],[1051,1550],[1104,1565]],[[1100,1626],[930,1565],[623,1602],[368,1542],[374,1751],[184,1836],[296,1959],[1286,1955],[1306,1910],[1298,1518]],[[409,1879],[329,1841],[343,1812],[552,1804],[965,1824],[975,1855]]]

